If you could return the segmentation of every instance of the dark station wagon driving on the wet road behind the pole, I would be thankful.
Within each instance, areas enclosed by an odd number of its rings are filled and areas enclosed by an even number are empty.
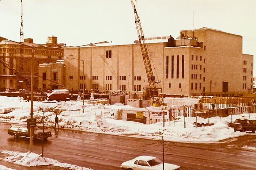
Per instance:
[[[19,126],[19,125],[12,125],[7,133],[9,135],[14,136],[14,138],[24,137],[24,138],[29,138],[29,130],[27,129],[26,126]],[[50,131],[44,131],[44,140],[46,140],[48,137],[52,136],[52,132]],[[38,128],[34,128],[34,133],[33,133],[33,140],[34,139],[43,139],[43,131],[39,130]]]

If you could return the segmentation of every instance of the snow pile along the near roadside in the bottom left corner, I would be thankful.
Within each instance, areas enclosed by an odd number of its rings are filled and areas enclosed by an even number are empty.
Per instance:
[[[54,165],[54,166],[69,168],[71,170],[92,170],[91,168],[71,165],[68,163],[61,163],[54,159],[41,157],[41,155],[35,154],[33,152],[21,153],[21,152],[15,152],[15,151],[0,150],[0,153],[11,155],[9,157],[0,158],[1,161],[12,162],[22,166],[30,167],[30,166],[40,166],[40,165]]]

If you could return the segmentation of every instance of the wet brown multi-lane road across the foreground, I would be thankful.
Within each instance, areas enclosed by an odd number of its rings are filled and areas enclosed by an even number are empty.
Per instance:
[[[29,139],[7,134],[10,124],[0,123],[0,150],[29,151]],[[52,131],[44,142],[44,156],[72,165],[98,170],[120,169],[122,162],[139,155],[152,155],[162,159],[161,146],[155,141],[128,136],[116,136],[71,130]],[[256,169],[256,151],[243,146],[256,147],[256,135],[244,135],[218,143],[170,143],[165,162],[181,169]],[[41,140],[33,143],[33,152],[41,154]]]

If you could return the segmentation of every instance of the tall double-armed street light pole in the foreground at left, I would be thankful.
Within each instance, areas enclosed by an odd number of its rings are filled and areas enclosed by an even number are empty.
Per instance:
[[[24,46],[27,46],[29,48],[32,49],[32,57],[31,57],[31,94],[30,94],[30,120],[33,119],[33,97],[34,97],[34,49],[36,48],[39,48],[39,47],[46,47],[46,46],[54,46],[54,45],[57,45],[57,46],[64,46],[65,44],[64,43],[59,43],[59,44],[50,44],[50,45],[41,45],[41,46],[29,46],[29,45],[26,45],[24,43],[19,43],[19,42],[16,42],[16,41],[13,41],[13,40],[10,40],[10,39],[7,39],[7,38],[4,38],[4,37],[1,37],[0,36],[0,42],[2,40],[7,40],[7,41],[11,41],[11,42],[15,42],[15,43],[18,43],[20,45],[24,45]],[[32,152],[32,144],[33,144],[33,127],[30,127],[30,130],[29,130],[30,134],[29,134],[29,152]]]

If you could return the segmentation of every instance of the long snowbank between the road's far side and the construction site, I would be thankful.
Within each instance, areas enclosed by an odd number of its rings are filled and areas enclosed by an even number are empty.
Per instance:
[[[26,124],[26,119],[30,117],[30,102],[22,102],[19,97],[5,97],[0,96],[0,107],[15,107],[14,111],[7,114],[0,114],[0,121]],[[105,109],[126,109],[130,110],[130,105],[117,103],[109,104],[85,104],[84,113],[80,110],[82,108],[82,101],[67,101],[59,103],[42,103],[34,102],[34,117],[40,118],[42,112],[39,108],[56,107],[64,109],[59,117],[59,125],[62,128],[71,128],[75,130],[99,132],[116,135],[136,135],[143,138],[154,138],[154,134],[164,131],[165,140],[170,141],[193,141],[193,142],[210,142],[218,141],[225,138],[244,135],[242,132],[234,132],[233,128],[228,127],[228,122],[242,117],[244,119],[255,119],[256,114],[242,114],[232,115],[227,117],[211,117],[209,119],[197,118],[198,123],[215,123],[211,126],[195,127],[193,123],[196,121],[195,117],[177,117],[178,120],[165,122],[158,122],[156,124],[146,125],[143,123],[116,120],[112,118],[103,117]],[[141,109],[141,108],[140,108]],[[154,110],[154,107],[148,107],[149,110]],[[159,109],[159,108],[157,108]],[[45,113],[46,115],[49,113]],[[46,126],[54,126],[55,115],[45,118]],[[184,123],[185,121],[185,123]],[[39,124],[38,124],[39,125]]]

